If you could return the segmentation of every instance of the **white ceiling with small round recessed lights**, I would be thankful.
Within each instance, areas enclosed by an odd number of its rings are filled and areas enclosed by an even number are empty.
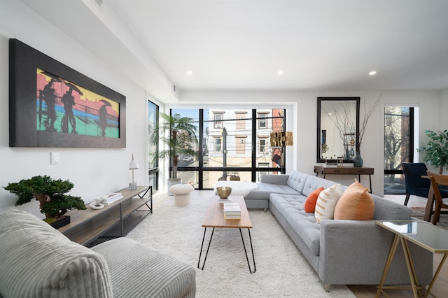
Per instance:
[[[103,34],[102,59],[127,50],[179,90],[448,88],[446,0],[72,0],[81,27],[54,16],[68,0],[22,1],[81,44]]]

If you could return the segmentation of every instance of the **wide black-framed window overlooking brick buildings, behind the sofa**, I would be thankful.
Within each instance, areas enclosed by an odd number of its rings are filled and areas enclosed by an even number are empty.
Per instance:
[[[269,142],[270,133],[284,131],[284,109],[173,109],[171,113],[193,118],[197,124],[195,156],[179,157],[178,176],[187,179],[183,183],[197,181],[192,183],[197,189],[209,189],[218,180],[256,181],[260,173],[285,172],[277,164],[283,152]]]

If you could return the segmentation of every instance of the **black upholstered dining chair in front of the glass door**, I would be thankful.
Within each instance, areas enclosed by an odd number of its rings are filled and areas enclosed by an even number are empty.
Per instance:
[[[426,164],[423,164],[423,162],[402,162],[401,166],[403,173],[405,174],[405,205],[407,205],[407,201],[409,201],[411,194],[418,197],[428,198],[429,187],[431,184],[430,179],[429,177],[421,178],[421,176],[428,175],[428,173],[426,173],[426,171],[428,171]],[[448,190],[440,190],[440,194],[442,194],[442,198],[447,198]]]

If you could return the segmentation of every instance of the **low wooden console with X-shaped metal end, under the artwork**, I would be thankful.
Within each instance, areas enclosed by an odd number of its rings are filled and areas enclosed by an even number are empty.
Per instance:
[[[70,215],[70,223],[60,227],[59,232],[71,241],[92,247],[124,236],[153,213],[153,187],[137,186],[137,190],[125,188],[118,192],[123,194],[123,198],[102,209],[95,210],[86,204],[87,210],[66,213]],[[145,197],[148,192],[148,197]]]

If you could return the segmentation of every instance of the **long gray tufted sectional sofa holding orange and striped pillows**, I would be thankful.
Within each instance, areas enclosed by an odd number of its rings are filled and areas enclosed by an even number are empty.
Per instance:
[[[304,212],[304,202],[318,187],[336,183],[299,171],[289,175],[262,175],[256,189],[244,199],[248,208],[269,208],[323,282],[330,285],[378,285],[393,234],[375,220],[410,220],[412,210],[372,194],[374,220],[323,220]],[[346,186],[343,187],[345,189]],[[433,275],[433,254],[410,245],[421,285]],[[397,251],[386,284],[409,284],[402,250]]]

